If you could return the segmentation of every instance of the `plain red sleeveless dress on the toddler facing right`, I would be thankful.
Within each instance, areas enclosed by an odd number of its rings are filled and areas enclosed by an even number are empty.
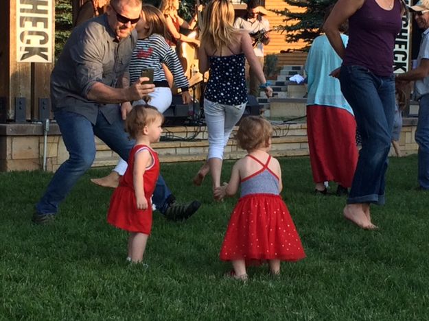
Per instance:
[[[135,154],[148,150],[152,155],[152,165],[146,167],[143,174],[143,188],[148,209],[137,209],[132,172],[134,170]],[[159,176],[159,160],[154,150],[146,145],[132,147],[128,158],[128,168],[119,181],[119,186],[113,192],[111,204],[108,209],[107,222],[129,232],[145,233],[150,235],[152,229],[152,202],[151,197]]]

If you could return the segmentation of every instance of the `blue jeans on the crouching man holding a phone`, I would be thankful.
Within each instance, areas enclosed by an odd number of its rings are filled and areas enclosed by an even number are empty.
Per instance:
[[[98,113],[95,125],[82,115],[61,110],[55,112],[55,119],[69,152],[69,159],[58,168],[49,182],[45,195],[36,205],[40,214],[57,213],[60,202],[65,199],[85,171],[91,167],[95,158],[94,135],[104,141],[124,160],[128,159],[135,143],[128,139],[128,134],[124,131],[124,122],[121,119],[119,108],[117,119],[112,124],[106,121],[101,112]],[[152,200],[161,213],[167,209],[170,195],[170,189],[160,175]]]

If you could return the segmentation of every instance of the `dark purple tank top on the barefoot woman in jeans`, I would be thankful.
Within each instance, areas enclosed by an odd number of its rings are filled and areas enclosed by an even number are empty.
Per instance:
[[[375,0],[365,0],[349,18],[345,66],[367,67],[382,77],[393,73],[393,47],[402,27],[401,2],[393,3],[391,10],[384,10]]]

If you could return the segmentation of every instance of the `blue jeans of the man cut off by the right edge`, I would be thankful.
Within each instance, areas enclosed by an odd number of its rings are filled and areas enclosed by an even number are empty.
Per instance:
[[[429,94],[419,102],[419,121],[415,132],[415,141],[419,144],[419,185],[429,189]]]

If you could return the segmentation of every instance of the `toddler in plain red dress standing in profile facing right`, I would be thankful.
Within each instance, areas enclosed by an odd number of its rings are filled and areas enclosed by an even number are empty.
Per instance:
[[[159,175],[159,160],[151,143],[159,141],[163,115],[152,106],[137,105],[126,118],[126,130],[135,139],[128,168],[113,192],[107,222],[128,230],[128,261],[139,263],[152,228],[150,198]]]

